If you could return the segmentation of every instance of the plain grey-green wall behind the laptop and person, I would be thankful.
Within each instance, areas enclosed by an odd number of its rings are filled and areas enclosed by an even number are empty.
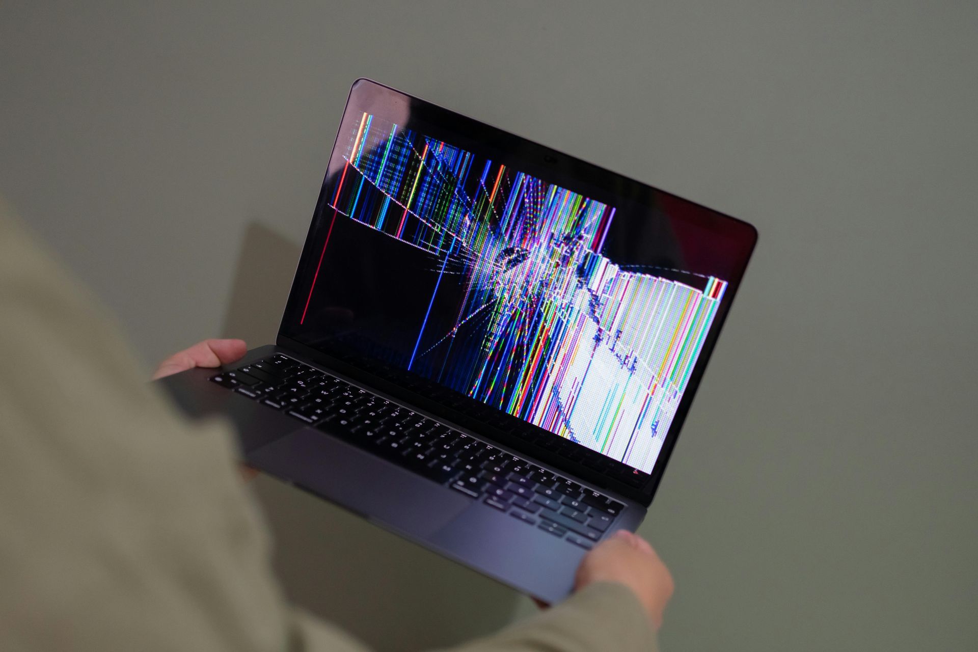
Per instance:
[[[370,76],[757,225],[642,534],[670,650],[978,649],[978,5],[0,6],[0,192],[146,360],[270,341]],[[289,591],[389,649],[529,613],[269,480]]]

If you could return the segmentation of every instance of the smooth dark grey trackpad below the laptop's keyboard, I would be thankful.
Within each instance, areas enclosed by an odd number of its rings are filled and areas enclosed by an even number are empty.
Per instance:
[[[267,473],[416,537],[431,535],[471,502],[310,427],[245,458]]]

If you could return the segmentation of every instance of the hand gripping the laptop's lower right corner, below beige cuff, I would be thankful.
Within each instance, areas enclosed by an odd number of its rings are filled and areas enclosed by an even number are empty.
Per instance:
[[[645,539],[619,530],[588,552],[577,568],[574,590],[596,582],[617,582],[631,588],[655,629],[662,627],[662,612],[674,585],[669,569]]]

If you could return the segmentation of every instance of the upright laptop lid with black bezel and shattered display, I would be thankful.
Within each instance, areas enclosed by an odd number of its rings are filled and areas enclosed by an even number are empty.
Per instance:
[[[756,239],[360,79],[279,342],[647,505]]]

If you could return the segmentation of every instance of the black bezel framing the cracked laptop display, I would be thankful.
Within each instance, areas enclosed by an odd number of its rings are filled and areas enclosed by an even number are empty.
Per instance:
[[[339,147],[339,135],[342,133],[344,125],[347,125],[353,119],[353,116],[360,115],[363,112],[379,113],[381,115],[410,115],[413,124],[421,123],[424,125],[424,133],[427,136],[445,140],[469,151],[492,152],[495,160],[515,166],[527,174],[546,179],[569,190],[587,196],[593,196],[602,201],[617,200],[618,202],[637,203],[651,207],[658,196],[679,199],[688,203],[690,207],[699,209],[696,215],[687,216],[685,219],[698,222],[699,226],[714,232],[720,232],[725,237],[729,237],[736,242],[738,255],[734,266],[734,274],[732,278],[725,279],[725,281],[729,282],[729,286],[717,309],[714,324],[706,335],[699,357],[689,375],[689,382],[683,393],[683,398],[680,401],[669,430],[663,439],[663,444],[655,464],[648,474],[636,473],[635,475],[640,476],[638,478],[632,477],[630,474],[623,474],[621,469],[615,465],[626,466],[625,464],[617,462],[610,457],[601,456],[600,454],[596,455],[603,457],[605,460],[610,460],[613,464],[604,464],[604,468],[599,469],[596,466],[601,467],[602,464],[600,463],[589,463],[589,460],[570,459],[566,456],[565,452],[560,453],[557,450],[566,448],[567,445],[574,447],[574,449],[585,449],[585,451],[590,451],[590,449],[587,449],[583,445],[569,442],[569,440],[565,440],[548,430],[511,416],[508,413],[491,408],[488,410],[493,413],[492,420],[499,419],[503,425],[500,427],[490,425],[486,422],[486,408],[484,405],[472,399],[467,400],[471,404],[478,404],[477,406],[467,406],[465,411],[450,408],[439,401],[432,400],[425,395],[425,392],[419,390],[417,386],[406,386],[400,375],[398,375],[399,379],[394,379],[393,376],[381,373],[377,369],[364,369],[359,365],[340,360],[328,352],[310,347],[289,334],[287,320],[290,309],[293,309],[296,301],[303,300],[302,297],[309,289],[309,278],[311,276],[309,273],[316,262],[315,247],[313,246],[316,217],[322,214],[325,203],[328,203],[327,182],[331,174],[335,171],[333,166],[336,160],[336,149]],[[536,457],[540,461],[550,464],[568,474],[576,475],[600,487],[615,491],[622,496],[648,505],[662,479],[669,457],[672,454],[683,423],[689,413],[689,406],[699,386],[713,348],[716,345],[719,333],[727,319],[731,304],[733,303],[733,297],[743,278],[747,262],[756,242],[757,230],[747,222],[689,201],[683,197],[655,189],[569,154],[534,143],[456,111],[438,107],[420,98],[379,84],[376,81],[361,78],[356,80],[350,89],[343,117],[337,128],[337,136],[333,141],[333,150],[330,155],[330,164],[328,165],[316,210],[313,213],[313,219],[310,221],[309,232],[303,244],[298,265],[296,266],[295,277],[289,291],[289,300],[284,311],[282,324],[279,328],[277,343],[280,346],[289,347],[313,361],[345,373],[364,384],[372,385],[378,390],[384,391],[404,402],[416,405],[422,410],[465,426],[480,436],[508,446],[527,456]],[[518,425],[511,423],[508,419],[511,419],[512,422],[516,422]],[[519,434],[513,434],[514,430],[518,430]],[[560,441],[556,442],[549,438]],[[590,454],[587,456],[589,458],[592,457]],[[628,480],[628,482],[625,480]],[[641,481],[639,486],[634,486],[637,481]]]

